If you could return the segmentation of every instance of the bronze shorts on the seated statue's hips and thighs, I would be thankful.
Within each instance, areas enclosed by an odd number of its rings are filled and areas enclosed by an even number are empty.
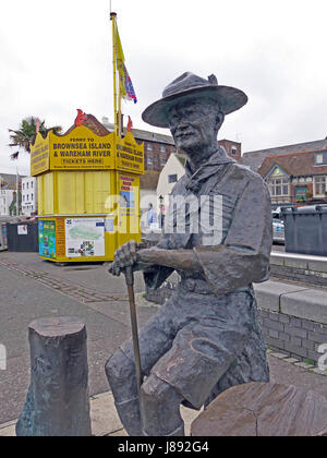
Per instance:
[[[180,284],[140,332],[143,373],[174,387],[195,409],[233,385],[269,381],[252,287],[220,297],[199,287]],[[131,340],[121,349],[134,359]]]

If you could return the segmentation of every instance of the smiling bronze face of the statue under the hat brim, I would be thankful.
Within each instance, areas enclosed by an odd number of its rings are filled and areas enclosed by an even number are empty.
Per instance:
[[[202,100],[189,100],[171,108],[169,128],[175,146],[191,154],[211,145],[217,141],[217,108]]]

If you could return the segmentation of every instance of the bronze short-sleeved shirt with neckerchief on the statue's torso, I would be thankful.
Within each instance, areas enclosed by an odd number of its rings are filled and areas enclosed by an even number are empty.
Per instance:
[[[219,148],[195,172],[186,162],[170,202],[158,248],[193,250],[203,266],[203,272],[178,270],[182,281],[198,280],[197,288],[217,294],[268,278],[271,206],[267,186],[257,173]],[[145,281],[149,288],[158,288],[172,270],[157,266],[156,272],[145,274]]]

